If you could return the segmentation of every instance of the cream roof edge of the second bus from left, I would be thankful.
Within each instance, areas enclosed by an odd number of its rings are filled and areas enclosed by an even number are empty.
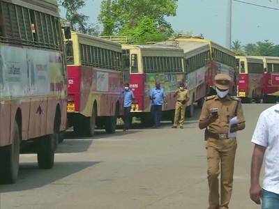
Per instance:
[[[112,42],[110,40],[105,40],[103,38],[98,38],[96,36],[91,36],[83,33],[77,33],[72,31],[72,40],[77,38],[77,41],[84,45],[100,47],[103,49],[110,49],[115,52],[122,52],[121,45],[117,42]]]

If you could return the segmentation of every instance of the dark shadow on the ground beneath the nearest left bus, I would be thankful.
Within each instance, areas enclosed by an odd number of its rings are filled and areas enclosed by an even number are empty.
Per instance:
[[[20,164],[17,183],[14,185],[0,185],[0,192],[20,192],[50,185],[56,180],[70,176],[73,173],[93,167],[100,162],[56,162],[52,169],[39,169],[36,163]],[[61,183],[54,183],[63,185]]]

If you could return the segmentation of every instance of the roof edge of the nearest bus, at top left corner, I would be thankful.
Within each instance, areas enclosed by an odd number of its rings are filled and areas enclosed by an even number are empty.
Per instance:
[[[59,17],[59,8],[56,0],[3,0],[8,3],[14,3],[25,8],[37,10],[48,15]]]

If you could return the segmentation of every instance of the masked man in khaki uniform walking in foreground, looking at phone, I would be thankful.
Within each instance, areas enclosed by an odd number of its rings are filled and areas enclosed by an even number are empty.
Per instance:
[[[218,74],[215,82],[217,95],[206,98],[199,118],[199,128],[206,128],[209,209],[229,208],[237,147],[236,131],[245,128],[241,102],[228,95],[230,77]]]

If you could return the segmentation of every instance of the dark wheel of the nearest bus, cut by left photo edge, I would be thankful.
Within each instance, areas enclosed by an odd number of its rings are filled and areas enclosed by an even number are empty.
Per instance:
[[[0,148],[0,182],[15,183],[20,167],[20,130],[15,122],[13,144]]]

